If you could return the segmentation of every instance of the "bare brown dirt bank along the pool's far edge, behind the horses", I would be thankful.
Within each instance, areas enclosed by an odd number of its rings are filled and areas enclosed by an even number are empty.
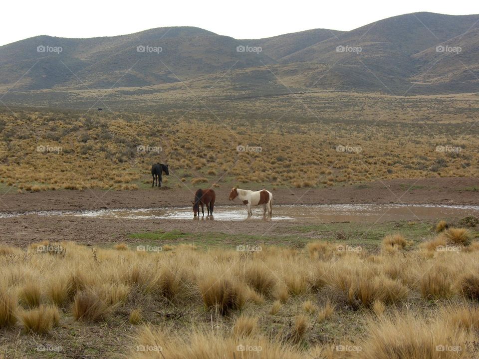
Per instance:
[[[206,186],[205,186],[206,187]],[[248,186],[246,186],[248,187]],[[259,189],[259,186],[249,186]],[[196,188],[196,187],[191,187]],[[331,188],[278,188],[274,204],[403,203],[403,204],[479,204],[479,179],[395,179]],[[215,188],[217,207],[228,201],[230,185]],[[16,189],[0,195],[1,212],[28,210],[86,210],[102,208],[142,208],[188,206],[193,193],[183,188],[140,189],[129,191],[83,190],[26,192]]]

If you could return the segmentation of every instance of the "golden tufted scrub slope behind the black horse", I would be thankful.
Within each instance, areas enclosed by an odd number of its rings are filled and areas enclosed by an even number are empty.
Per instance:
[[[170,187],[478,177],[479,137],[467,126],[3,112],[0,178],[19,191],[136,189],[151,183],[156,162],[170,166]]]

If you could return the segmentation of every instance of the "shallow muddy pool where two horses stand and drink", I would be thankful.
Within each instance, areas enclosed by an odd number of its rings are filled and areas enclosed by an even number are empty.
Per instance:
[[[26,214],[58,217],[97,217],[104,219],[194,219],[191,207],[0,213],[0,218]],[[457,218],[464,217],[470,214],[479,215],[479,206],[394,204],[284,205],[273,207],[273,216],[271,219],[323,223],[388,222],[397,220],[435,220],[438,218]],[[199,217],[199,219],[202,220],[261,220],[262,218],[262,208],[254,208],[253,216],[248,218],[245,206],[219,206],[215,208],[215,213],[213,217],[208,217],[207,215],[205,215],[204,217]]]

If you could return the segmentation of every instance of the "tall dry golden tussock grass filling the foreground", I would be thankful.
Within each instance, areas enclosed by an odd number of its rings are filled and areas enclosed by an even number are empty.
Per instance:
[[[438,228],[419,245],[391,233],[369,250],[327,241],[254,252],[2,246],[0,353],[472,358],[479,242],[471,229]]]

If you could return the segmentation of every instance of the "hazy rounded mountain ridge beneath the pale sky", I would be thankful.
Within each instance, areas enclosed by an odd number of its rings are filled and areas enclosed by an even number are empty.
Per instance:
[[[479,15],[418,12],[351,31],[313,29],[264,39],[163,27],[87,39],[40,35],[0,46],[0,88],[14,94],[197,79],[208,87],[222,79],[226,92],[262,95],[284,86],[295,91],[477,92],[478,59]]]

